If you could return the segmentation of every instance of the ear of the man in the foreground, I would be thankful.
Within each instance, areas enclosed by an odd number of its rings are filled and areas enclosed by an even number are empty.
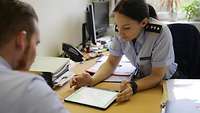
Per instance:
[[[27,32],[26,31],[21,31],[17,34],[16,38],[16,48],[20,50],[24,50],[26,48],[27,44]]]

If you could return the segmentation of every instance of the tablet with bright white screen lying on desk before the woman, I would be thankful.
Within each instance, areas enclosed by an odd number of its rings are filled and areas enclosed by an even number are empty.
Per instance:
[[[81,87],[64,100],[79,103],[100,109],[106,109],[117,98],[118,92],[98,89],[94,87]]]

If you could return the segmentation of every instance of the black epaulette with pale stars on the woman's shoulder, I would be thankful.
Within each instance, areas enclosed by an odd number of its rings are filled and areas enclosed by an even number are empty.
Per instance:
[[[162,31],[162,25],[149,23],[146,25],[145,31],[160,33]]]

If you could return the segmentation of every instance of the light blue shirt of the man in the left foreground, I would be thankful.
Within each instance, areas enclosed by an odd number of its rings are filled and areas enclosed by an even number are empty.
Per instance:
[[[13,71],[0,57],[0,113],[69,113],[44,79]]]

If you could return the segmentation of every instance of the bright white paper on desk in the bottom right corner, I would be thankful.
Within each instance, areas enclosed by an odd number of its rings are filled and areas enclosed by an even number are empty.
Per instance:
[[[200,80],[171,79],[167,90],[166,113],[200,113]]]

